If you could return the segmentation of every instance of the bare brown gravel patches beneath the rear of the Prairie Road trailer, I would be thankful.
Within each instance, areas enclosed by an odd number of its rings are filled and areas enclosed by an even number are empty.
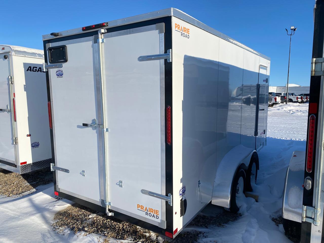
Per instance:
[[[208,226],[224,227],[224,224],[235,221],[238,217],[240,214],[226,211],[216,216],[198,215],[190,225],[206,228]],[[76,203],[55,214],[54,221],[53,229],[60,234],[64,234],[65,229],[70,229],[75,234],[84,231],[86,234],[95,233],[108,237],[104,242],[109,242],[109,238],[128,240],[132,243],[158,243],[158,240],[161,240],[161,237],[156,233],[118,219],[109,218],[106,214],[98,213]],[[184,231],[172,240],[172,243],[194,243],[197,242],[199,235],[203,234],[201,231]]]

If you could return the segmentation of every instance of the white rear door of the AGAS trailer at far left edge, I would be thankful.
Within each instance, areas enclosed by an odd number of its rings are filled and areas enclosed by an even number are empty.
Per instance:
[[[11,107],[13,91],[12,84],[9,83],[10,54],[10,52],[0,53],[0,162],[3,163],[16,163]]]

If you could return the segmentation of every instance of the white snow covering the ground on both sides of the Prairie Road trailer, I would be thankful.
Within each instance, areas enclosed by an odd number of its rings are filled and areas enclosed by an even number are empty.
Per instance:
[[[241,207],[242,216],[235,222],[219,227],[189,226],[185,230],[206,232],[199,242],[256,243],[291,242],[277,227],[272,217],[281,214],[284,177],[294,150],[305,150],[308,104],[282,104],[269,108],[267,146],[259,154],[260,170],[253,188],[259,202],[247,198]],[[72,204],[53,195],[53,185],[43,185],[37,192],[20,197],[0,196],[0,242],[98,242],[98,235],[74,235],[69,230],[58,234],[52,230],[54,214]],[[221,211],[208,206],[202,213]],[[127,242],[110,239],[114,242]]]

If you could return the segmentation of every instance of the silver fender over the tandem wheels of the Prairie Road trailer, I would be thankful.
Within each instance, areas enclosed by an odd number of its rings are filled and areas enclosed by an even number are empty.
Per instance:
[[[216,170],[212,204],[229,208],[233,178],[237,169],[244,171],[249,167],[253,153],[256,151],[243,145],[232,148],[221,160]]]

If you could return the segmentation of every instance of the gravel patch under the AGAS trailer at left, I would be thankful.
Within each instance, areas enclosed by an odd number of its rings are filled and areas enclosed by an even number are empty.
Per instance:
[[[52,182],[53,172],[49,168],[22,175],[0,168],[0,195],[7,197],[29,191],[32,193],[36,187]]]

